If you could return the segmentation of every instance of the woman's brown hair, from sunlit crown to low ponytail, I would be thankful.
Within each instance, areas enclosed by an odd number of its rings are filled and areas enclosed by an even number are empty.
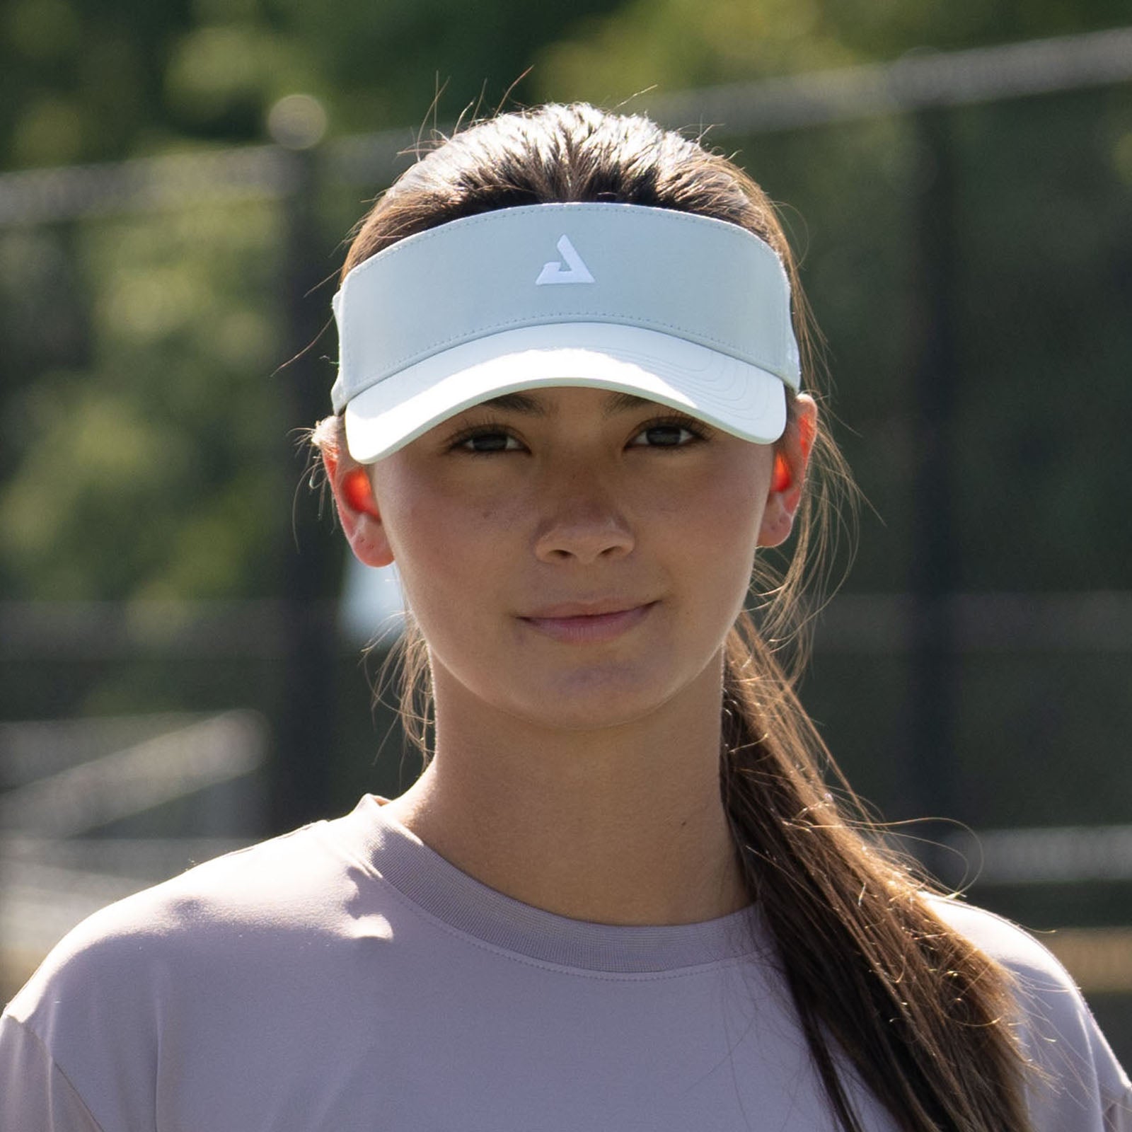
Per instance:
[[[696,142],[645,118],[588,105],[501,114],[432,149],[358,228],[343,275],[414,232],[494,208],[609,200],[729,221],[786,265],[807,387],[812,319],[782,226],[763,190]],[[788,428],[797,428],[795,412]],[[342,441],[337,419],[315,443]],[[747,887],[777,944],[801,1030],[846,1132],[860,1132],[838,1070],[852,1070],[908,1132],[1024,1132],[1023,1058],[1004,1021],[1009,974],[950,928],[914,868],[883,848],[795,689],[781,644],[805,620],[804,583],[825,557],[849,482],[824,429],[798,514],[794,552],[756,564],[758,627],[744,614],[727,642],[720,784]],[[402,715],[424,749],[427,658],[419,632],[401,657]],[[427,752],[426,757],[427,757]],[[826,775],[835,780],[834,800]]]

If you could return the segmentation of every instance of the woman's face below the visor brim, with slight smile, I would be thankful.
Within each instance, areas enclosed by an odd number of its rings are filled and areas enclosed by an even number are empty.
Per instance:
[[[772,463],[663,405],[565,387],[468,410],[379,461],[374,525],[438,692],[574,730],[718,684]]]

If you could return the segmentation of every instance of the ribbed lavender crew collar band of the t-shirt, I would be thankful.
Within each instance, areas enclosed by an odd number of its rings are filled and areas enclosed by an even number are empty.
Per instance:
[[[765,950],[756,906],[695,924],[616,925],[571,919],[491,889],[430,849],[365,795],[346,821],[367,872],[448,929],[496,950],[607,974],[662,974]]]

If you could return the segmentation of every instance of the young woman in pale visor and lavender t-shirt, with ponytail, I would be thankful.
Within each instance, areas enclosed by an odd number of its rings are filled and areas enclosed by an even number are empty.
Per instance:
[[[841,468],[764,194],[642,118],[506,114],[378,201],[335,312],[315,440],[431,760],[77,928],[0,1125],[1132,1129],[1064,970],[823,782],[771,643]]]

